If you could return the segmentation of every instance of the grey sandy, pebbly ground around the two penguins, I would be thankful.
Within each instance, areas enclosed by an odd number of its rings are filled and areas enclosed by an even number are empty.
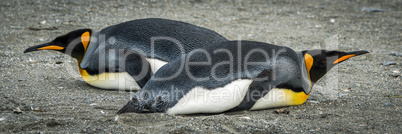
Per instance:
[[[360,1],[0,1],[0,133],[398,133],[401,125],[402,2]],[[130,113],[133,93],[85,84],[76,61],[29,46],[79,28],[100,30],[160,17],[229,39],[343,51],[368,50],[334,68],[306,103],[261,111],[171,116]],[[391,61],[396,65],[384,66]],[[392,76],[393,75],[393,76]],[[14,113],[20,108],[22,113]],[[289,114],[276,114],[286,109]]]

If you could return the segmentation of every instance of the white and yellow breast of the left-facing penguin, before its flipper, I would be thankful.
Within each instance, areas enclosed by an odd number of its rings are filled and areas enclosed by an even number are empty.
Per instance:
[[[111,90],[139,90],[140,86],[127,72],[102,73],[99,75],[82,76],[91,86]]]

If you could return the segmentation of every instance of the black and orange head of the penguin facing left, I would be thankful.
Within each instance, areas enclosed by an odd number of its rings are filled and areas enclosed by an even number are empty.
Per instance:
[[[79,29],[59,36],[51,42],[29,47],[24,53],[39,50],[56,50],[81,61],[91,39],[91,29]]]

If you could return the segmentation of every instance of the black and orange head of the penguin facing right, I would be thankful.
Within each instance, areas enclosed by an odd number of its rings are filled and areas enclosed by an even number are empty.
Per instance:
[[[326,50],[305,50],[302,51],[307,73],[312,83],[316,83],[335,65],[358,55],[366,54],[368,51],[326,51]]]

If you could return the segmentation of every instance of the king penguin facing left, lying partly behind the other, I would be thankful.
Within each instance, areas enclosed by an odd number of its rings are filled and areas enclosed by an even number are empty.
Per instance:
[[[96,32],[79,29],[24,53],[56,50],[72,56],[84,81],[94,87],[138,90],[153,73],[177,56],[205,44],[225,42],[220,34],[189,23],[148,18]]]

